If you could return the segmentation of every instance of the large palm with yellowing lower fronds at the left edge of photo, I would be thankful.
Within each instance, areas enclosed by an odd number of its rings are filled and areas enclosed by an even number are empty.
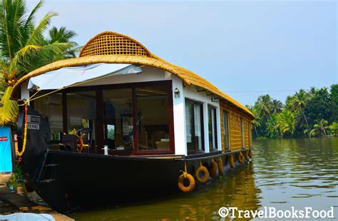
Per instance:
[[[0,102],[0,125],[16,122],[18,106],[10,101],[12,86],[26,73],[40,66],[61,59],[60,55],[70,48],[69,43],[46,42],[43,37],[51,18],[57,14],[48,12],[35,26],[34,18],[43,1],[30,14],[24,0],[0,1],[0,75],[5,89]]]

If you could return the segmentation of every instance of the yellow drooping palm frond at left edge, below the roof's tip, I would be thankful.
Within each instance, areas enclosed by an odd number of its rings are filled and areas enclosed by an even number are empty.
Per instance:
[[[4,95],[1,98],[0,102],[0,125],[9,125],[16,123],[16,118],[18,116],[18,103],[16,101],[11,101],[9,98],[11,96],[11,91],[13,87],[6,88]]]

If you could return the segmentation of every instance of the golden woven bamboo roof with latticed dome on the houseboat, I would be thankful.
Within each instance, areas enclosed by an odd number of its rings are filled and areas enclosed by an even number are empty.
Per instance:
[[[253,117],[252,113],[245,108],[245,106],[242,106],[242,104],[238,103],[230,96],[227,96],[227,94],[213,86],[209,81],[192,71],[188,71],[180,66],[175,66],[164,61],[162,58],[155,56],[135,39],[112,31],[105,31],[91,38],[91,40],[83,46],[78,58],[55,61],[26,74],[26,76],[21,78],[14,85],[11,98],[15,99],[19,97],[21,83],[24,83],[24,81],[31,77],[39,76],[59,68],[83,66],[91,63],[133,63],[141,66],[160,68],[178,76],[185,86],[197,86],[198,88],[210,91],[210,93],[220,97],[220,99],[225,99],[225,101],[232,103],[237,108],[240,108],[241,111],[244,111]]]

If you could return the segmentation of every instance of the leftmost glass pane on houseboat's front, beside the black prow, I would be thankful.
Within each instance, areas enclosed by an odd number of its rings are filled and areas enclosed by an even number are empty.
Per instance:
[[[52,93],[36,99],[34,109],[48,121],[51,128],[51,140],[61,140],[63,133],[62,93]]]

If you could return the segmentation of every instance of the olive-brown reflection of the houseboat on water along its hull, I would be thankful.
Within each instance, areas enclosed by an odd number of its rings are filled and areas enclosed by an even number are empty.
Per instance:
[[[253,163],[230,171],[190,194],[76,212],[76,220],[210,220],[219,219],[221,206],[257,210],[260,190],[255,186]]]

